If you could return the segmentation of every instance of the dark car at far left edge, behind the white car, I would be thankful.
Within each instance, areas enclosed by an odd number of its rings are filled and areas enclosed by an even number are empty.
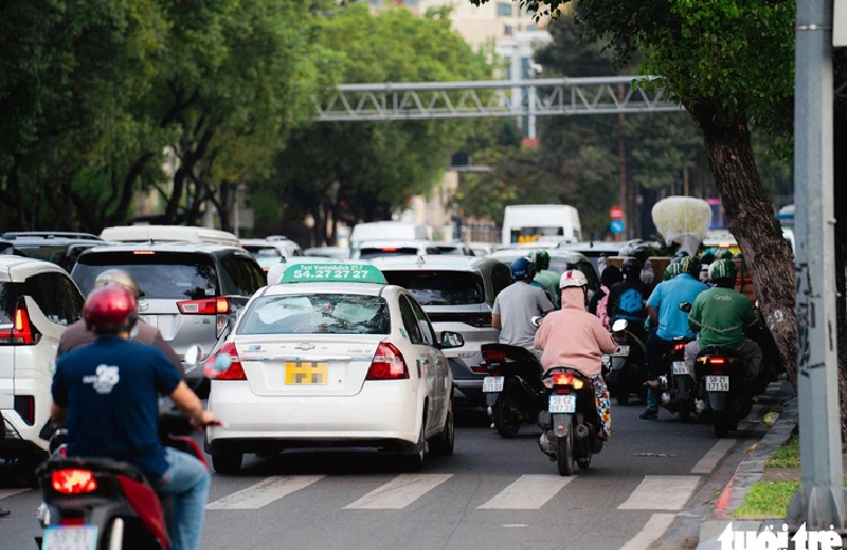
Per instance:
[[[67,272],[73,268],[82,251],[109,244],[90,233],[8,232],[0,238],[4,245],[0,254],[52,262]]]

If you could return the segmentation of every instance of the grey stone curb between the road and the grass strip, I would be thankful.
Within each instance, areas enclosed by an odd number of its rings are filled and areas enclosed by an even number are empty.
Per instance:
[[[720,493],[715,507],[700,523],[697,550],[720,550],[722,546],[718,541],[718,537],[726,530],[727,526],[731,526],[733,531],[758,532],[765,523],[772,522],[772,520],[733,520],[732,512],[741,505],[752,484],[761,478],[765,471],[765,462],[791,436],[797,420],[797,396],[794,395],[782,405],[779,418],[761,441],[756,444],[756,449],[741,459],[735,475]]]

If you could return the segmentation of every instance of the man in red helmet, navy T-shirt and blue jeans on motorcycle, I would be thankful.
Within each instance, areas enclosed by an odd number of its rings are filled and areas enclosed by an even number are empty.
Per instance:
[[[68,456],[104,456],[137,466],[160,494],[174,495],[171,549],[199,547],[209,473],[195,456],[158,438],[158,393],[196,428],[214,421],[165,354],[130,341],[135,295],[107,285],[86,298],[83,318],[97,340],[63,354],[52,383],[52,420],[68,426]]]

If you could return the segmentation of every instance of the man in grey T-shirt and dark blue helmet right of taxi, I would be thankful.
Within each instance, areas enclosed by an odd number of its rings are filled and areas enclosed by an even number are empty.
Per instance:
[[[512,262],[510,271],[514,283],[500,291],[494,298],[491,326],[500,331],[501,344],[525,347],[540,356],[534,348],[536,328],[531,320],[554,311],[555,306],[542,288],[530,285],[532,276],[528,258]]]

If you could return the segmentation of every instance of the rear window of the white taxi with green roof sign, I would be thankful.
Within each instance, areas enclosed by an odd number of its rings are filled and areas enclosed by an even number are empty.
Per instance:
[[[378,296],[296,294],[256,298],[237,334],[388,334],[388,305]]]

